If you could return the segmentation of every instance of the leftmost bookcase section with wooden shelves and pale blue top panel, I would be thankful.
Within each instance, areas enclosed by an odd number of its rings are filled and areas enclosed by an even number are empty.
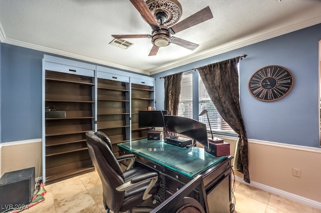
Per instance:
[[[53,65],[46,64],[43,71],[46,184],[94,170],[85,133],[95,129],[95,70],[81,68],[78,72],[79,67]]]

